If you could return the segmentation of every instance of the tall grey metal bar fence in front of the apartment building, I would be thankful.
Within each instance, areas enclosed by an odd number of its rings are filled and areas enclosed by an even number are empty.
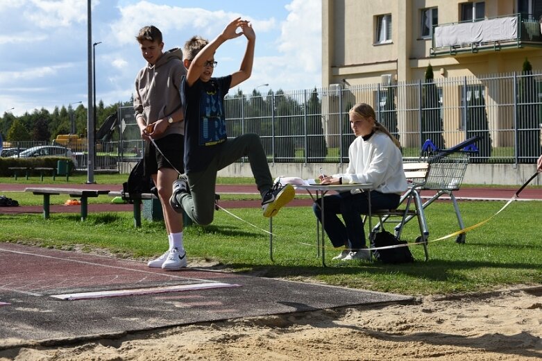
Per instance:
[[[269,162],[348,162],[354,140],[348,110],[364,102],[398,137],[405,157],[419,156],[426,140],[445,149],[473,135],[481,140],[471,162],[534,163],[542,153],[541,72],[412,83],[382,79],[371,85],[228,94],[228,136],[257,133]],[[97,146],[96,169],[142,155],[133,108],[119,108],[118,119],[115,141]],[[79,163],[86,165],[84,159]]]

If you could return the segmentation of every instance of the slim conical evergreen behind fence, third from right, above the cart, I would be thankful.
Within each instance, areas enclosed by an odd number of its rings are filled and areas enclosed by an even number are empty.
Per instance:
[[[420,124],[422,143],[430,139],[438,149],[444,149],[439,92],[437,86],[434,84],[433,67],[431,64],[427,65],[427,69],[425,69],[425,83],[423,84],[422,96],[423,103]]]

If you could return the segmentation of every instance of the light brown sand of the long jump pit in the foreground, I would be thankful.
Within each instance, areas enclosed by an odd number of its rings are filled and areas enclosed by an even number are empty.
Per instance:
[[[0,351],[0,360],[540,360],[542,287],[426,296]]]

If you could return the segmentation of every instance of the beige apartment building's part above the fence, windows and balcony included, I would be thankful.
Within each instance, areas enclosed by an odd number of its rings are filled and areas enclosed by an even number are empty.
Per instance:
[[[542,0],[323,0],[323,86],[542,69]]]

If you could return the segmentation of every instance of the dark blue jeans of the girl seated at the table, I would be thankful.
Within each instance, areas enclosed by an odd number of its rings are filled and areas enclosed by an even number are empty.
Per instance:
[[[319,221],[321,202],[324,202],[324,230],[334,247],[346,246],[356,251],[366,248],[362,215],[369,213],[368,192],[351,194],[342,192],[316,199],[312,210]],[[399,194],[371,191],[371,209],[393,209],[399,205]],[[339,219],[341,215],[344,223]]]

